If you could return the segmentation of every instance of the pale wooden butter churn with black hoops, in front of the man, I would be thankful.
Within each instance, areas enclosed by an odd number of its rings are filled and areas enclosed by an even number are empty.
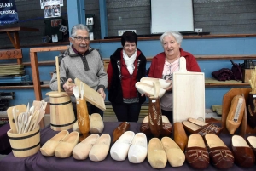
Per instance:
[[[49,92],[50,128],[55,131],[73,128],[75,117],[70,97],[65,92]]]

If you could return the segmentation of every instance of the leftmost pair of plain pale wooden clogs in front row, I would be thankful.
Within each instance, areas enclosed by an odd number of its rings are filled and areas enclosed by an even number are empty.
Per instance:
[[[46,141],[40,151],[46,157],[55,155],[55,157],[66,158],[71,156],[73,148],[78,142],[79,133],[77,131],[69,134],[67,130],[62,130]]]

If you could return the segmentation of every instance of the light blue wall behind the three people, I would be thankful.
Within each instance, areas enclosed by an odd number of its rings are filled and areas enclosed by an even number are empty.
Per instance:
[[[108,59],[111,54],[119,48],[121,44],[116,43],[90,43],[92,48],[99,49],[102,58]],[[159,40],[139,41],[137,48],[143,51],[146,57],[154,57],[163,51]],[[182,48],[185,51],[194,55],[241,55],[241,54],[256,54],[256,37],[241,37],[241,38],[208,38],[208,39],[183,39]],[[22,48],[23,61],[29,62],[29,49]],[[38,61],[55,60],[55,56],[59,52],[43,52],[38,53]],[[242,63],[243,60],[236,60]],[[230,60],[198,60],[201,71],[205,72],[205,77],[212,77],[212,71],[217,71],[221,68],[231,68]],[[150,66],[148,62],[147,67]],[[50,80],[50,72],[54,70],[55,66],[40,66],[40,80]],[[32,79],[31,67],[26,67],[26,74],[29,74]],[[232,87],[230,87],[232,88]],[[211,108],[212,105],[221,105],[222,98],[230,88],[206,88],[206,108]],[[1,90],[2,91],[2,90]],[[11,89],[6,92],[15,91],[16,99],[11,101],[11,105],[32,103],[35,99],[33,89]],[[42,89],[42,96],[50,89]],[[108,98],[107,98],[108,99]]]

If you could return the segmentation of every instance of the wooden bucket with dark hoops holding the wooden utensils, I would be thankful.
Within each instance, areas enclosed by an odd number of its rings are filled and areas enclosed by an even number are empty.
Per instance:
[[[24,134],[14,134],[12,129],[7,132],[9,144],[15,157],[29,157],[40,149],[40,130],[34,130]]]

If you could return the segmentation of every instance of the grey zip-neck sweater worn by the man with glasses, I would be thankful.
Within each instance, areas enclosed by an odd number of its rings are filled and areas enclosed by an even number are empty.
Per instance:
[[[95,90],[108,87],[107,73],[104,71],[104,65],[99,52],[96,49],[89,48],[89,53],[85,53],[83,57],[76,54],[73,48],[69,47],[67,51],[60,54],[60,82],[61,88],[68,78],[77,77]],[[58,90],[56,71],[50,80],[49,87]]]

